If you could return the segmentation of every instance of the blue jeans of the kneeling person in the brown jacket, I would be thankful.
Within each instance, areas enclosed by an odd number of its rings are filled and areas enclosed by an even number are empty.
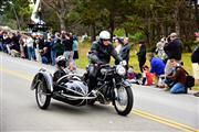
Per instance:
[[[170,92],[171,94],[186,94],[186,87],[182,84],[177,82],[171,87]]]

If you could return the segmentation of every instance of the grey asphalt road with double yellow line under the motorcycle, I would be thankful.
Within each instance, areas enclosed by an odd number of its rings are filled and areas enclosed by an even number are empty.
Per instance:
[[[134,109],[121,117],[112,106],[73,107],[55,100],[41,110],[30,90],[34,74],[45,67],[0,53],[0,131],[199,131],[199,98],[133,86]]]

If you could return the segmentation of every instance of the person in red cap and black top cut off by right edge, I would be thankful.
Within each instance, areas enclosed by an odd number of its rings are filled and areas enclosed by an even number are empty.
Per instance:
[[[197,46],[191,54],[191,63],[192,63],[195,82],[199,84],[199,32],[196,33],[195,35],[196,35]]]

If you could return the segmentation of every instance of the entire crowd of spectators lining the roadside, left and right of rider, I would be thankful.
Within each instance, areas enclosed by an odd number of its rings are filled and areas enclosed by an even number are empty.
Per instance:
[[[133,66],[128,66],[130,53],[128,37],[123,40],[115,38],[114,41],[117,54],[127,62],[126,69],[127,78],[129,80],[133,80],[136,84],[151,86],[153,78],[156,78],[155,85],[159,88],[167,86],[172,94],[187,92],[187,88],[185,86],[186,73],[177,69],[177,67],[182,67],[182,43],[177,37],[176,33],[171,33],[168,37],[163,37],[160,42],[157,43],[157,57],[155,57],[153,53],[148,53],[147,56],[145,43],[143,41],[139,42],[137,57],[142,74],[135,73]],[[199,44],[199,33],[196,33],[196,42]],[[75,59],[78,58],[78,41],[75,35],[65,31],[62,31],[61,33],[56,32],[54,34],[21,34],[20,32],[0,30],[0,51],[8,53],[11,56],[22,57],[53,66],[55,65],[55,58],[63,55],[66,58],[67,68],[70,70],[76,70]],[[147,58],[150,66],[146,65]],[[191,54],[191,62],[193,77],[196,79],[196,84],[198,84],[198,45]],[[138,81],[140,78],[142,80]]]

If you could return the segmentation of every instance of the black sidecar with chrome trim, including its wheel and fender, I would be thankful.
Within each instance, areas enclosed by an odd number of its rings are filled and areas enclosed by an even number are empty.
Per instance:
[[[87,84],[75,74],[62,76],[53,82],[53,76],[46,69],[40,69],[34,76],[31,90],[35,89],[36,103],[41,109],[46,109],[51,98],[73,106],[84,106],[96,96],[88,92]]]

